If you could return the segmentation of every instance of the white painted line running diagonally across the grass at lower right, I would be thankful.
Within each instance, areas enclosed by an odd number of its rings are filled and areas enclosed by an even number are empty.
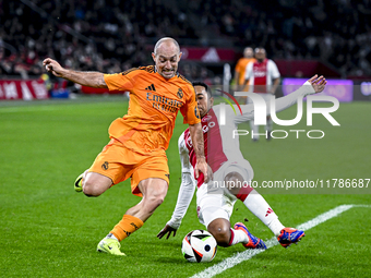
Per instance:
[[[297,229],[299,230],[309,230],[320,223],[323,223],[324,221],[327,221],[328,219],[332,219],[336,216],[338,216],[339,214],[352,208],[352,207],[371,207],[371,205],[340,205],[337,206],[322,215],[319,215],[318,217],[301,223],[297,227]],[[273,237],[272,239],[270,239],[268,241],[265,242],[266,244],[266,249],[273,247],[278,243],[276,237]],[[214,277],[215,275],[218,275],[220,273],[223,273],[224,270],[227,270],[228,268],[231,268],[244,261],[250,259],[251,257],[264,252],[265,250],[247,250],[240,253],[237,253],[235,255],[232,255],[231,257],[228,257],[226,259],[224,259],[223,262],[213,265],[206,269],[204,269],[203,271],[193,275],[191,278],[210,278],[210,277]]]

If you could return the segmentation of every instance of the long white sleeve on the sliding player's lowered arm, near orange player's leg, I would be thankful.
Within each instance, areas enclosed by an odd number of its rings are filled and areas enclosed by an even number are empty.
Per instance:
[[[167,225],[173,229],[178,229],[180,227],[181,220],[191,204],[196,188],[196,182],[193,178],[193,167],[190,164],[188,148],[185,146],[184,133],[182,133],[179,137],[178,148],[182,169],[181,184],[178,193],[177,205],[173,209],[171,219],[167,222]]]

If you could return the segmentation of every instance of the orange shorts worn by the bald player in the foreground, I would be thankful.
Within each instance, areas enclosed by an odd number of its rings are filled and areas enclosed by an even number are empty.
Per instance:
[[[169,184],[169,167],[165,150],[151,155],[135,153],[112,138],[96,157],[89,172],[110,178],[113,184],[131,178],[131,192],[142,196],[137,184],[148,178],[159,178]]]

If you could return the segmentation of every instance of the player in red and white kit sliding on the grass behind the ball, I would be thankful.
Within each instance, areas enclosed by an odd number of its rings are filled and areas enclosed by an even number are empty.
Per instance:
[[[253,179],[253,170],[240,152],[238,136],[232,136],[232,134],[234,130],[237,130],[238,123],[253,119],[253,105],[241,106],[242,114],[235,114],[231,107],[225,106],[226,113],[223,116],[220,114],[222,106],[213,106],[214,99],[208,86],[200,82],[193,83],[193,85],[202,118],[204,153],[207,164],[214,172],[214,180],[204,183],[202,176],[199,179],[194,178],[195,154],[189,130],[185,130],[178,141],[182,165],[182,181],[177,205],[171,219],[157,237],[161,239],[167,234],[168,239],[172,232],[176,235],[176,231],[180,227],[198,188],[199,220],[214,235],[218,245],[231,246],[242,243],[247,249],[266,247],[265,243],[252,235],[243,223],[237,222],[234,228],[230,227],[229,218],[237,200],[243,202],[272,230],[284,247],[300,241],[304,232],[294,228],[285,228],[263,196],[249,184]],[[318,78],[314,75],[295,93],[278,98],[276,100],[276,111],[292,106],[298,98],[322,92],[325,85],[326,81],[323,76]],[[225,119],[225,124],[223,124],[220,118]]]

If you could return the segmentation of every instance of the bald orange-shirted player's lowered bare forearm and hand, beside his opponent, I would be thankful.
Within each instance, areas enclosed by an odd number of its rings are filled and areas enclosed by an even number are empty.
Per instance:
[[[204,138],[202,133],[201,123],[190,124],[190,134],[192,138],[192,144],[194,148],[195,156],[198,158],[198,162],[194,167],[195,178],[199,178],[199,173],[202,172],[204,174],[204,181],[208,182],[213,179],[213,171],[208,167],[205,153],[204,153]]]

